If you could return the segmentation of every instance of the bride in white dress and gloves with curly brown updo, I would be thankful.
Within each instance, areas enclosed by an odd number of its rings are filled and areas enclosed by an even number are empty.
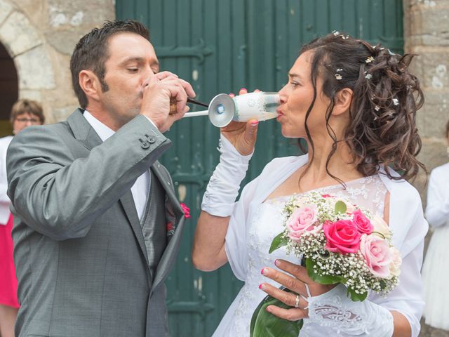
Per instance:
[[[292,307],[269,306],[269,312],[304,319],[301,337],[418,336],[427,222],[420,195],[404,179],[422,166],[415,158],[420,148],[415,112],[422,91],[407,70],[410,60],[338,33],[304,46],[279,91],[277,120],[283,136],[304,138],[309,152],[271,161],[237,202],[257,121],[222,128],[220,164],[203,197],[192,261],[201,270],[229,262],[245,284],[213,336],[248,337],[250,319],[266,293]],[[403,263],[400,284],[388,296],[370,293],[367,300],[352,302],[344,286],[304,277],[304,267],[286,262],[297,260],[285,250],[268,253],[283,229],[283,203],[312,190],[351,199],[389,223]],[[279,291],[274,280],[294,293]]]

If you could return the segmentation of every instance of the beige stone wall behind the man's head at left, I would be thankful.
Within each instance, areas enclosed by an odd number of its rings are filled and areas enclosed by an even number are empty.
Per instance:
[[[0,42],[18,70],[19,98],[42,103],[48,123],[78,106],[69,60],[77,41],[115,18],[114,0],[0,0]]]

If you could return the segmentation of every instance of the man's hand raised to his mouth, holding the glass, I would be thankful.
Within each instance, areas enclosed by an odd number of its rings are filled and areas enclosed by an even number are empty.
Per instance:
[[[153,121],[161,132],[189,111],[187,97],[195,97],[192,86],[171,72],[159,72],[143,88],[140,113]],[[176,113],[170,114],[170,99],[176,101]]]

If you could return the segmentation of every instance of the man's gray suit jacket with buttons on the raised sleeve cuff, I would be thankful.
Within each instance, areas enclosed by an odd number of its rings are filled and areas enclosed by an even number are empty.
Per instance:
[[[169,146],[141,115],[102,143],[81,110],[14,137],[7,171],[21,303],[16,336],[167,335],[163,282],[184,223],[156,161]],[[154,279],[130,192],[150,166],[175,217]]]

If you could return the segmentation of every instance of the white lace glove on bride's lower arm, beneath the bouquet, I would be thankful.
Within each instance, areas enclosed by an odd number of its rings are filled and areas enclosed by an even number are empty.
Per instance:
[[[300,336],[303,332],[305,336],[391,337],[393,335],[391,312],[370,300],[354,302],[347,296],[346,287],[342,284],[338,284],[327,293],[309,297],[307,300],[309,301],[309,318],[304,319]],[[317,325],[324,329],[316,329]],[[323,333],[316,334],[316,331],[323,331]]]

